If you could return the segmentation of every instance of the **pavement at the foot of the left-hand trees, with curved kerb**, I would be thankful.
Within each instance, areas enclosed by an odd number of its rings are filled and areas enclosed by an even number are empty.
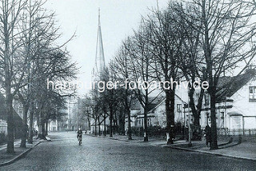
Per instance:
[[[7,145],[0,145],[0,167],[3,165],[9,165],[14,161],[17,161],[19,158],[24,157],[26,153],[28,153],[34,146],[38,145],[41,140],[37,140],[34,138],[33,144],[26,143],[26,149],[20,148],[21,140],[14,141],[14,154],[6,153]]]

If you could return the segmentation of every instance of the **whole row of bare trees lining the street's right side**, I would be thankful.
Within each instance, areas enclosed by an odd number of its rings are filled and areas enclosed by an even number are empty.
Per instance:
[[[142,17],[138,30],[134,30],[134,34],[122,42],[110,62],[107,80],[122,83],[126,80],[163,82],[166,129],[170,134],[168,143],[173,143],[174,96],[177,84],[165,89],[169,85],[164,82],[188,82],[189,106],[194,125],[199,125],[203,94],[209,93],[213,138],[211,148],[218,149],[215,119],[218,80],[225,74],[242,74],[251,65],[256,52],[254,10],[254,3],[237,0],[170,1],[166,9],[152,9],[150,14]],[[197,78],[201,82],[207,81],[209,88],[200,89],[198,97],[195,98],[196,89],[192,84]],[[147,113],[152,102],[150,93],[154,91],[155,89],[131,90],[123,87],[106,89],[101,93],[102,97],[98,98],[98,103],[94,101],[93,104],[94,107],[102,106],[102,110],[110,116],[110,129],[114,111],[111,106],[122,106],[122,113],[128,117],[130,139],[130,105],[136,97],[144,111],[144,141],[148,141]],[[91,113],[90,109],[86,113]],[[94,110],[94,114],[97,113]]]

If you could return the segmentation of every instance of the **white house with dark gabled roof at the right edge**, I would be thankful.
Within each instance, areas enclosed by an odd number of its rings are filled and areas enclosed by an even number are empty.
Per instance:
[[[222,77],[218,82],[216,122],[222,133],[252,133],[256,129],[256,77],[254,70],[235,77]],[[210,97],[205,94],[201,113],[202,128],[210,125]]]

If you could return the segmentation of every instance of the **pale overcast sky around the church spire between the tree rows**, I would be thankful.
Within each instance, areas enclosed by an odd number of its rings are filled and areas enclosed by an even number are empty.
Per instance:
[[[98,8],[101,10],[102,39],[105,60],[110,62],[122,40],[138,28],[141,15],[149,8],[164,8],[169,0],[48,0],[46,8],[55,11],[57,25],[61,26],[61,42],[74,32],[76,37],[67,49],[78,67],[79,81],[90,82],[96,54]],[[88,91],[79,91],[86,93]]]

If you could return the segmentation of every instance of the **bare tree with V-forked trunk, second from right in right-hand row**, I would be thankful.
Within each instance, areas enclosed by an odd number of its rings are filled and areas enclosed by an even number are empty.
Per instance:
[[[202,111],[202,100],[205,93],[205,89],[200,89],[198,85],[195,89],[194,82],[197,78],[200,82],[206,81],[206,70],[204,64],[204,58],[202,58],[202,48],[200,46],[201,32],[195,29],[195,22],[200,26],[201,22],[198,21],[198,13],[196,13],[197,7],[194,4],[179,4],[174,6],[174,23],[180,27],[178,34],[182,35],[182,53],[180,58],[180,64],[178,68],[182,70],[189,88],[190,108],[192,109],[194,117],[194,125],[200,129],[200,113]],[[195,98],[196,97],[196,98]]]

